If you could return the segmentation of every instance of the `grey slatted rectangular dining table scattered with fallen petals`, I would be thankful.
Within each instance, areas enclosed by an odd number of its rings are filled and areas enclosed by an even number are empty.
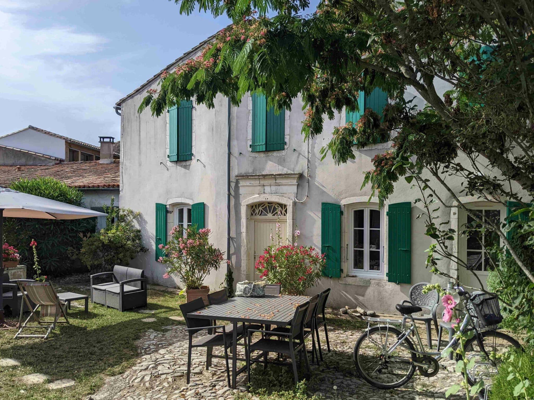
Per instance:
[[[307,296],[266,295],[265,297],[234,297],[224,303],[208,306],[203,310],[187,314],[188,318],[215,319],[230,321],[233,324],[232,337],[232,388],[235,388],[237,375],[246,366],[237,370],[237,327],[239,323],[262,324],[270,330],[270,325],[291,324],[295,308],[308,301]]]

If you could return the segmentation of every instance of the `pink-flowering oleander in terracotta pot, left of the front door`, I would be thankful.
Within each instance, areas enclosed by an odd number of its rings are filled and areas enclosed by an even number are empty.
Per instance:
[[[224,260],[223,253],[209,243],[208,228],[197,230],[196,227],[183,229],[175,226],[170,231],[167,245],[159,247],[165,252],[158,261],[167,264],[169,269],[163,275],[174,275],[185,285],[187,301],[199,297],[208,305],[209,286],[204,286],[204,279],[211,271],[216,271]]]

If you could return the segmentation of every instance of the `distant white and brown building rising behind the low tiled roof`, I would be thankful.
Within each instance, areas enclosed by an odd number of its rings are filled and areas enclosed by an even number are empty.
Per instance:
[[[119,143],[115,143],[119,148]],[[0,136],[0,165],[38,165],[54,162],[98,161],[100,147],[29,125]],[[22,150],[21,150],[22,149]],[[18,152],[17,152],[18,151]],[[26,151],[21,154],[21,151]],[[48,159],[43,159],[48,157]],[[119,152],[113,153],[119,158]]]

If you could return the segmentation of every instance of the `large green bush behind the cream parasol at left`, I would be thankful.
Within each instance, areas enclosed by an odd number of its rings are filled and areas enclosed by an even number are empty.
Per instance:
[[[83,206],[83,193],[68,187],[64,182],[53,178],[20,179],[10,186],[11,189]],[[5,241],[19,250],[23,263],[33,267],[34,257],[30,242],[35,239],[41,270],[44,275],[65,275],[79,268],[68,257],[69,248],[79,251],[82,246],[81,235],[95,231],[94,218],[77,220],[46,220],[32,218],[5,218]]]

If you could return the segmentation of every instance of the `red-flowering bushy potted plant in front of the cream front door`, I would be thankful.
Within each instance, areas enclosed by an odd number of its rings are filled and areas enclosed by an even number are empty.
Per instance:
[[[271,234],[271,245],[256,261],[254,268],[269,283],[280,284],[283,294],[303,295],[321,278],[325,268],[325,255],[315,247],[299,246],[300,231],[294,232],[293,244],[282,244],[280,224],[276,224],[276,239]]]

